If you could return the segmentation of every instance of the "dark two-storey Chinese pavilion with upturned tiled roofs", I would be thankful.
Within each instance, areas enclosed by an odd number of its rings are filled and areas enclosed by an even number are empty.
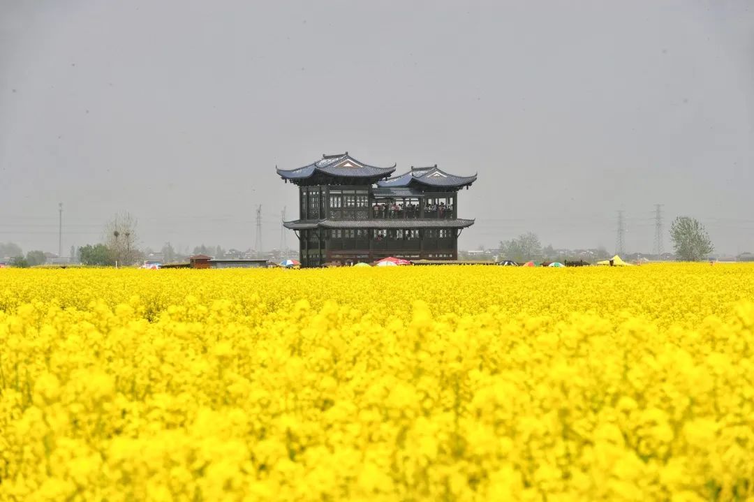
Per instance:
[[[302,266],[388,256],[458,259],[458,235],[474,225],[458,218],[458,191],[477,176],[455,176],[437,164],[394,172],[395,165],[370,166],[348,152],[277,169],[285,182],[299,186],[299,219],[284,225],[299,237]]]

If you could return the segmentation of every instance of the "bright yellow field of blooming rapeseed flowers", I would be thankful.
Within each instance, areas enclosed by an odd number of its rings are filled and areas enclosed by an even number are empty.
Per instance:
[[[752,500],[754,267],[0,270],[0,500]]]

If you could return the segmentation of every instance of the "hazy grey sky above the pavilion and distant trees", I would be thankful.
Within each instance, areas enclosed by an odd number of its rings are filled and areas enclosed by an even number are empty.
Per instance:
[[[655,203],[754,251],[754,2],[0,2],[0,242],[265,248],[274,171],[479,173],[461,248],[650,252]],[[288,245],[295,237],[289,231]],[[670,248],[666,239],[665,248]]]

